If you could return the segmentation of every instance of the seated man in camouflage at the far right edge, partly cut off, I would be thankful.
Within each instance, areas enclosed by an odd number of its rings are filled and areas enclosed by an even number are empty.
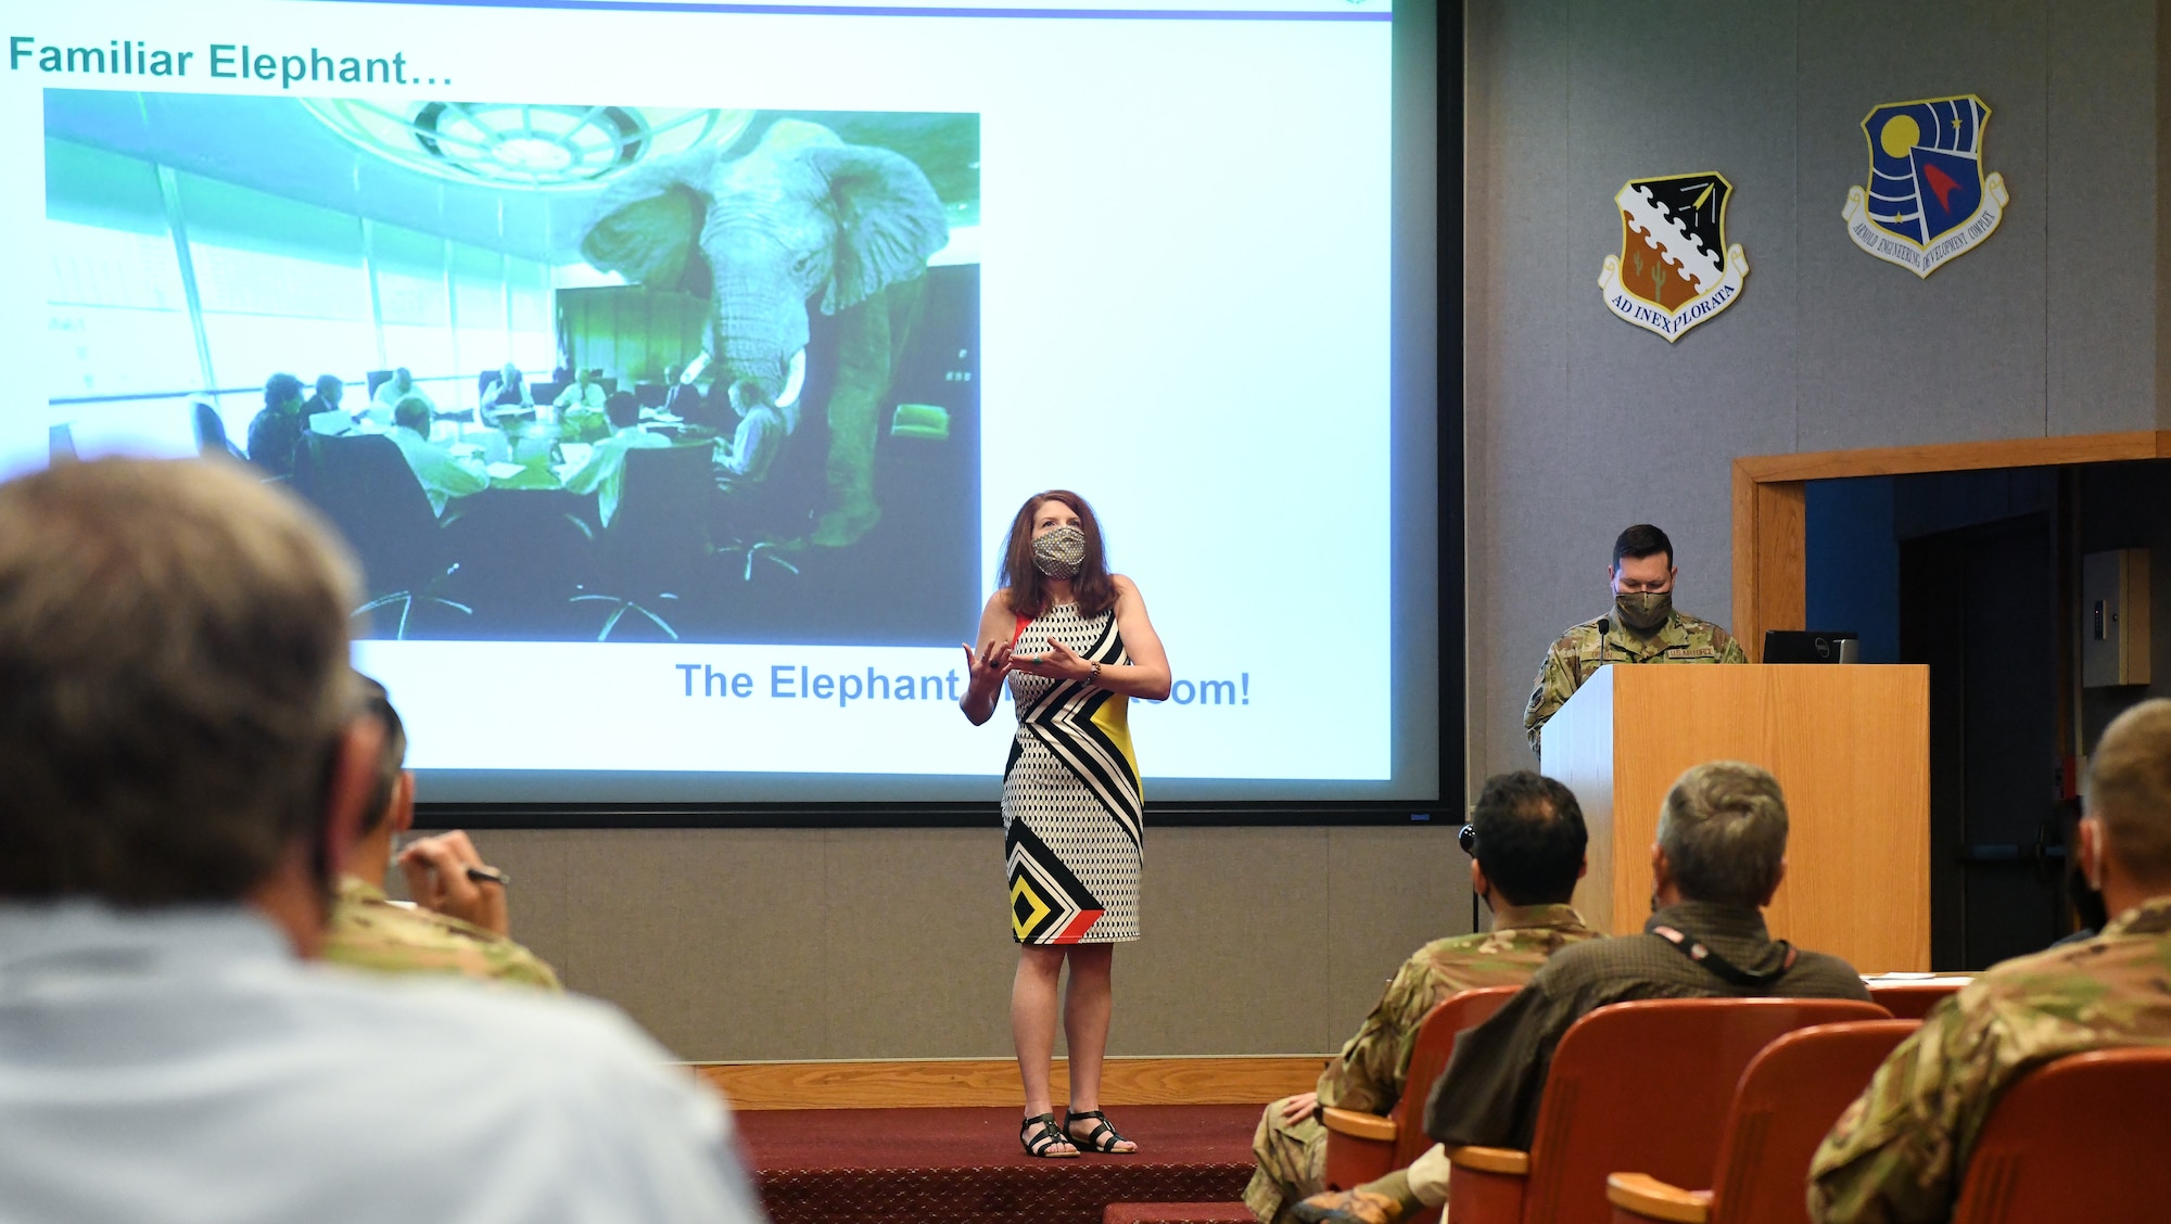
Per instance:
[[[2078,859],[2119,916],[1941,1003],[1817,1148],[1813,1220],[1950,1220],[1967,1157],[2017,1079],[2062,1055],[2171,1046],[2171,701],[2134,705],[2104,731]]]

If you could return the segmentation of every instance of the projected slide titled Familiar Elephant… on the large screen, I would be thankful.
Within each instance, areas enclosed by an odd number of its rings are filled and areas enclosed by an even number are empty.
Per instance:
[[[1148,801],[1437,799],[1387,0],[0,33],[0,458],[308,499],[423,801],[992,803],[960,645],[1046,488],[1168,649]]]

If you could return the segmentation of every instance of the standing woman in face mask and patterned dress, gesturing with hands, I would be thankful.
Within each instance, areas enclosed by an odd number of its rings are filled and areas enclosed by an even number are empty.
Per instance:
[[[1107,573],[1101,525],[1077,493],[1033,495],[1003,553],[1003,588],[966,647],[964,716],[994,716],[1003,677],[1018,736],[1003,770],[1003,857],[1018,977],[1010,1033],[1025,1079],[1018,1142],[1033,1157],[1135,1152],[1101,1113],[1109,970],[1116,944],[1138,938],[1144,805],[1125,705],[1168,697],[1168,655],[1138,586]],[[1064,1035],[1070,1105],[1062,1126],[1049,1089],[1055,985],[1070,961]]]

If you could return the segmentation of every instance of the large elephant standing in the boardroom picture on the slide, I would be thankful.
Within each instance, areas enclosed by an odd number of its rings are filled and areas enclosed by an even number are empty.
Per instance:
[[[738,412],[792,408],[808,310],[836,317],[827,490],[810,543],[845,547],[881,519],[879,412],[927,258],[947,243],[942,202],[910,158],[779,119],[745,156],[695,150],[627,171],[597,200],[580,254],[636,284],[706,295],[712,399],[729,395]]]

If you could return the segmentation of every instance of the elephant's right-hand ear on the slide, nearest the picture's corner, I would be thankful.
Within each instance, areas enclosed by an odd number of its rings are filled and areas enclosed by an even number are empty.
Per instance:
[[[810,145],[805,158],[829,180],[838,221],[823,315],[912,280],[949,245],[942,200],[912,158],[873,145]]]

